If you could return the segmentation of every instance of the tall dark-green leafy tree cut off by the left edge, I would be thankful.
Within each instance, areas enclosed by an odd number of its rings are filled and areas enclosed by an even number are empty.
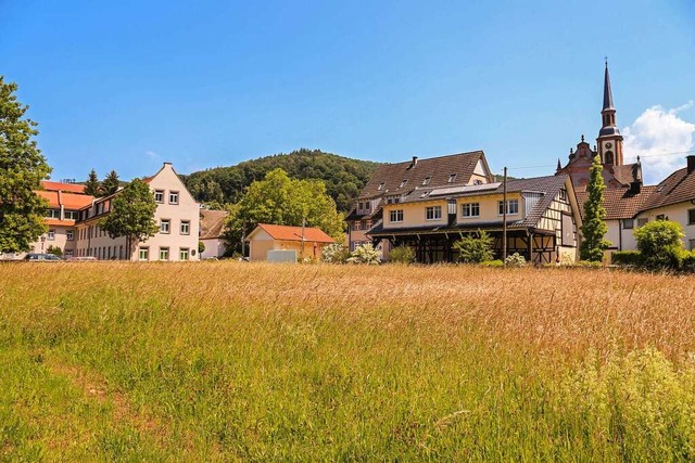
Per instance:
[[[28,106],[17,101],[17,86],[0,76],[0,253],[30,249],[46,232],[48,204],[34,191],[51,168],[37,147],[37,124],[24,117]]]

